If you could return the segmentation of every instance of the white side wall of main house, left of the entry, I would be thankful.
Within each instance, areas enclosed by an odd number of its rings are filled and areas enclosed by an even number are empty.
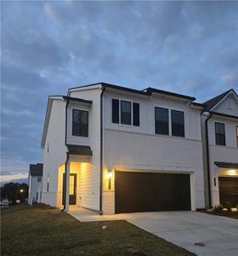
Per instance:
[[[42,202],[57,206],[58,170],[65,163],[65,102],[54,100],[43,155]],[[49,181],[49,185],[48,185]],[[48,190],[47,190],[48,187]]]

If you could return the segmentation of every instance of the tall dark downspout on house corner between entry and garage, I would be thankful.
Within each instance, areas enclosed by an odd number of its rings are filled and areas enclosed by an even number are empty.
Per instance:
[[[100,215],[103,214],[102,211],[102,199],[103,199],[103,95],[105,92],[105,87],[102,87],[102,92],[100,95],[100,192],[99,192],[99,212]]]

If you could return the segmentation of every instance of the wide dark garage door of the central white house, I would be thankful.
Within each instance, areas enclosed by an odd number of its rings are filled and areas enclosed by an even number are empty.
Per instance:
[[[190,175],[116,172],[115,211],[190,210]]]

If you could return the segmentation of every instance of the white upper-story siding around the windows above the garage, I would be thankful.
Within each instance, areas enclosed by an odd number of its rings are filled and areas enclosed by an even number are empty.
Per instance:
[[[138,102],[140,108],[139,126],[113,124],[111,122],[111,99],[116,98],[124,101]],[[178,102],[160,96],[152,98],[141,96],[116,95],[105,93],[104,96],[104,127],[118,131],[133,131],[144,134],[155,134],[155,107],[167,108],[184,112],[185,137],[201,140],[200,111],[188,107],[188,102]],[[170,114],[170,111],[169,111]],[[170,129],[171,134],[171,129]]]

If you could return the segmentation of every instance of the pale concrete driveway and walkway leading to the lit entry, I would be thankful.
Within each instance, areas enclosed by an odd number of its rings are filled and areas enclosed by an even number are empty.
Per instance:
[[[202,256],[238,255],[238,220],[201,212],[138,212],[103,215],[82,208],[71,209],[81,221],[126,219],[143,230]],[[203,243],[204,247],[195,246]]]

